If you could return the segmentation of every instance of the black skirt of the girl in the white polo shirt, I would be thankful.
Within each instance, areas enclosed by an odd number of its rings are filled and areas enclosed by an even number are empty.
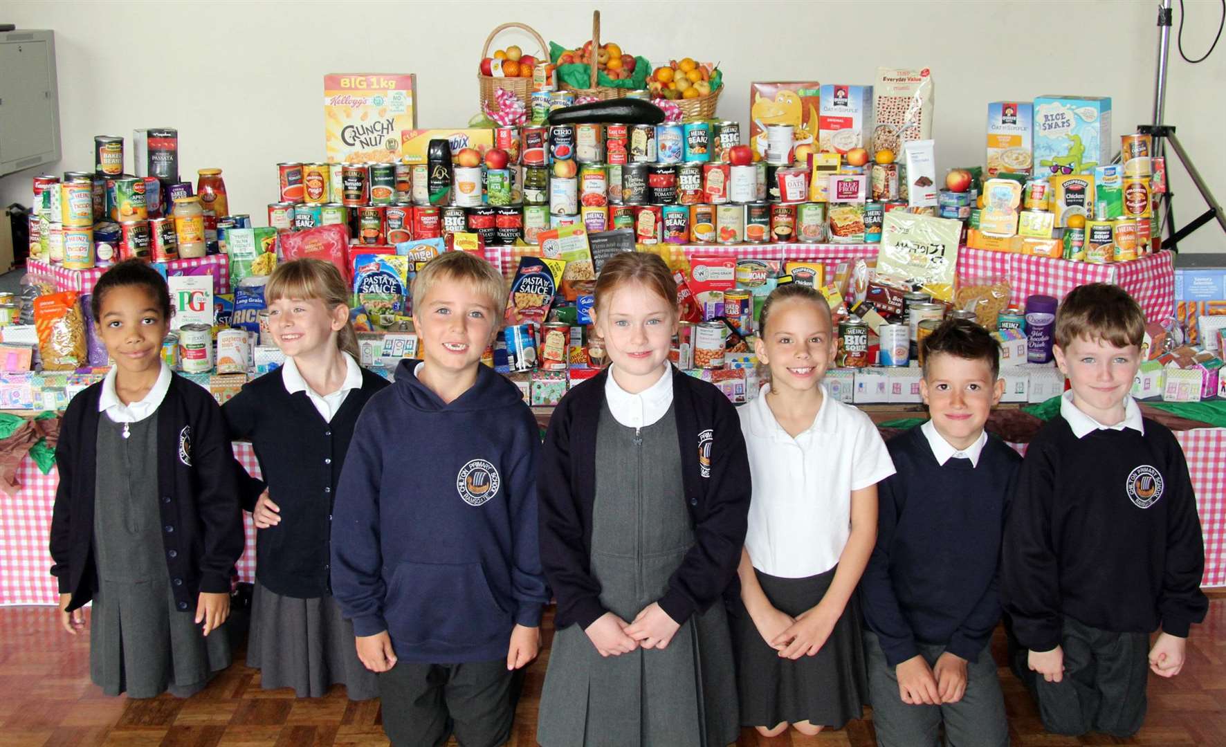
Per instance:
[[[836,568],[803,579],[755,573],[775,608],[796,617],[821,601]],[[739,597],[732,607],[728,622],[737,656],[742,725],[772,727],[782,721],[808,721],[841,729],[863,718],[868,676],[858,594],[852,594],[825,645],[813,656],[796,660],[781,659],[763,640]]]

